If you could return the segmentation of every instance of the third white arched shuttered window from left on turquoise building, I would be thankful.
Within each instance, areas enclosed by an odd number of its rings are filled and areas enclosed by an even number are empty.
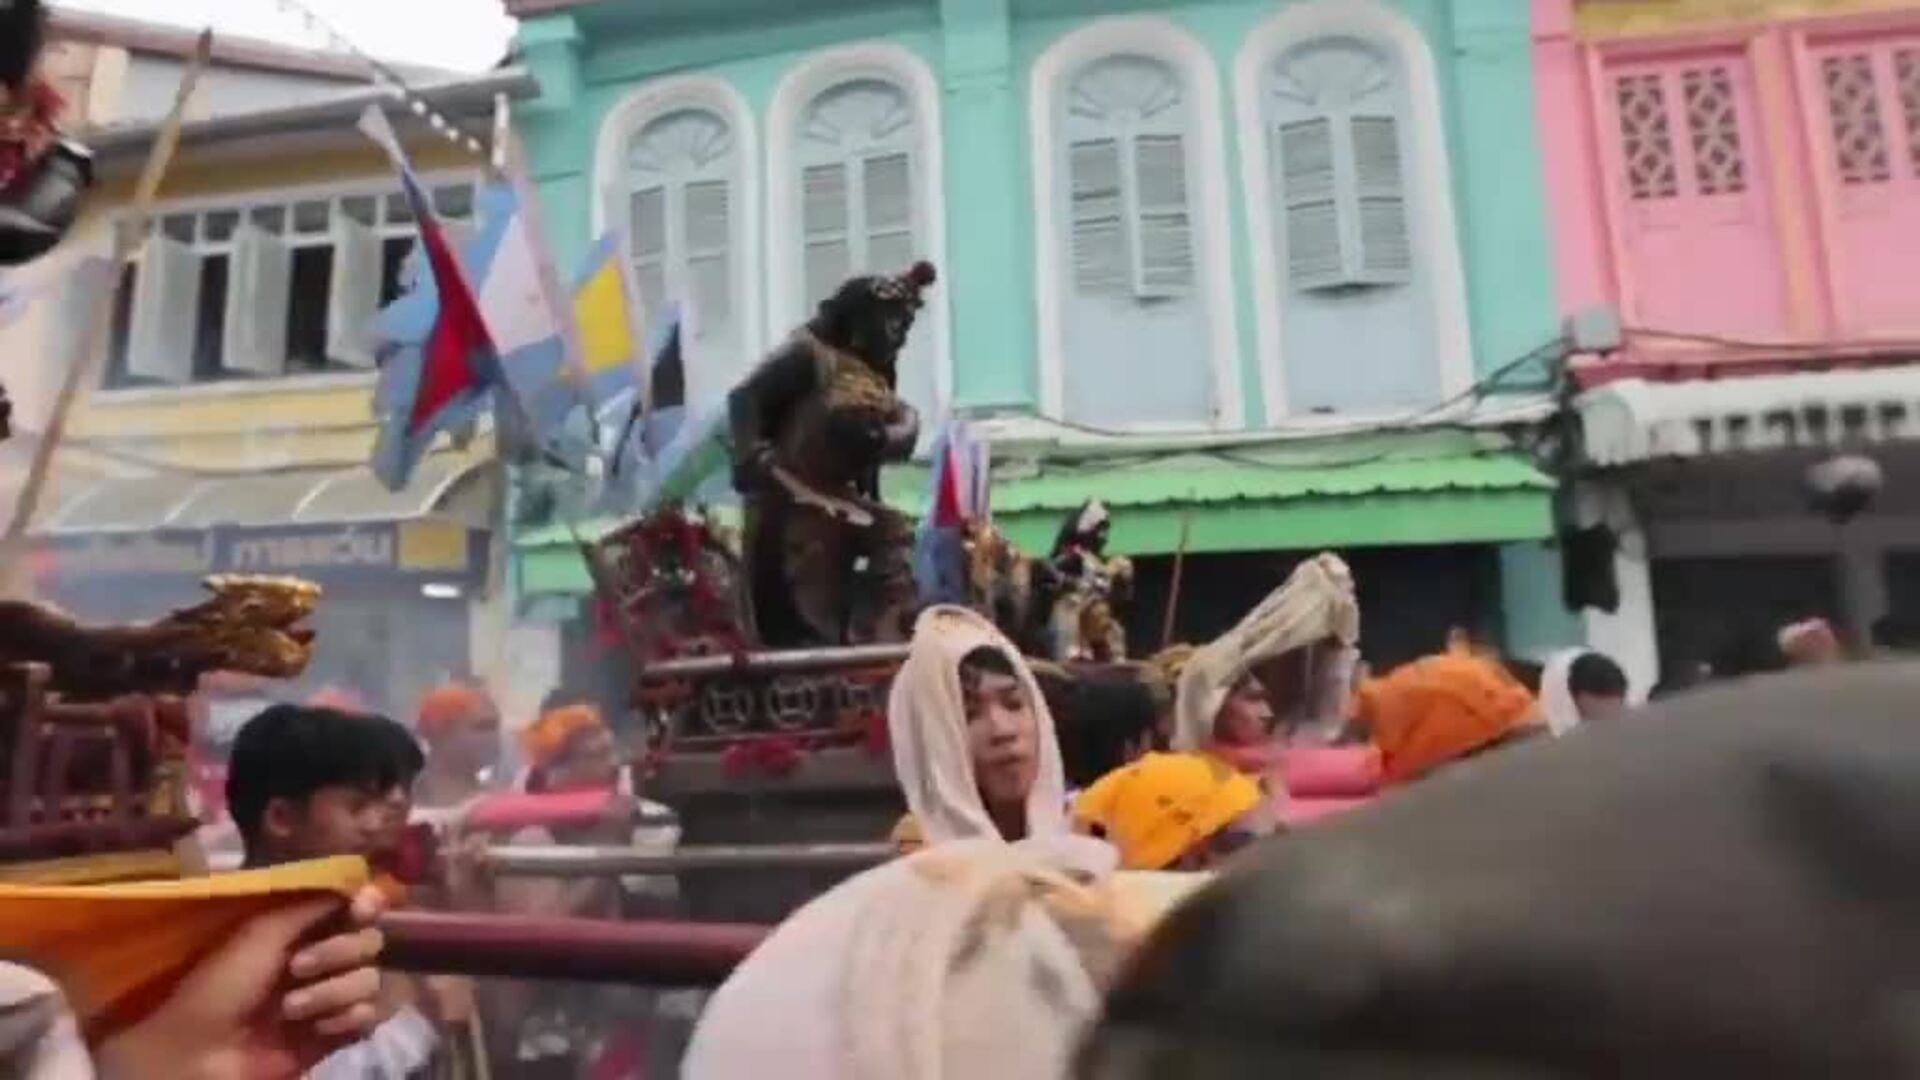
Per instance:
[[[1206,50],[1102,19],[1035,65],[1043,411],[1240,421],[1219,108]]]

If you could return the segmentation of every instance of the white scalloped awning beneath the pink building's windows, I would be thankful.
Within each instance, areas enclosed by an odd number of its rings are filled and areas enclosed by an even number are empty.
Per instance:
[[[1624,379],[1582,394],[1578,409],[1594,465],[1824,450],[1920,438],[1920,377],[1912,367],[1884,367],[1697,382]]]

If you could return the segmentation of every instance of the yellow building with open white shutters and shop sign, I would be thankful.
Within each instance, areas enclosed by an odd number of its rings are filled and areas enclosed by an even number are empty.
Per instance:
[[[486,135],[520,69],[419,85]],[[407,715],[428,682],[474,673],[501,471],[488,438],[438,446],[388,492],[374,444],[372,319],[399,290],[415,225],[386,158],[355,129],[386,104],[440,213],[470,229],[486,161],[378,88],[192,121],[148,234],[119,281],[67,273],[36,304],[42,390],[86,356],[92,379],[35,513],[36,590],[77,615],[144,619],[207,573],[319,580],[321,644],[303,694],[351,690]],[[40,273],[83,265],[125,213],[156,121],[88,135],[88,221]],[[21,340],[31,344],[23,346]],[[10,377],[12,382],[12,377]],[[35,425],[23,425],[31,444]]]

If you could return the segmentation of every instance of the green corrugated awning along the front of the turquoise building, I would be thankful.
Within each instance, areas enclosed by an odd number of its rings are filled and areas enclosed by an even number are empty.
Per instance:
[[[893,469],[887,502],[920,515],[927,473]],[[1400,544],[1503,544],[1551,534],[1553,480],[1503,440],[1421,432],[1236,446],[1173,455],[996,463],[993,513],[1025,552],[1046,552],[1087,498],[1114,509],[1114,550],[1267,552]],[[580,523],[595,538],[611,521]],[[580,594],[586,567],[566,527],[515,544],[520,592]]]

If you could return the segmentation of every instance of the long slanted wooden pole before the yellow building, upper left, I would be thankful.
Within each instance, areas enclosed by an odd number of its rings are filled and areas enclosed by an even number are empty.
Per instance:
[[[186,119],[186,106],[192,102],[194,86],[200,85],[200,75],[205,71],[211,54],[213,31],[200,31],[194,56],[186,61],[180,85],[173,92],[173,110],[167,111],[167,119],[161,121],[159,133],[154,136],[154,146],[146,154],[146,165],[140,169],[140,181],[132,188],[127,219],[119,223],[113,236],[113,256],[109,259],[113,275],[108,279],[109,282],[119,282],[121,267],[127,265],[127,259],[146,236],[146,219],[154,209],[154,198],[159,194],[159,183],[167,177],[167,165],[173,163],[173,152],[180,144],[180,123]],[[19,586],[17,573],[27,548],[27,527],[40,507],[40,496],[46,492],[48,473],[54,467],[54,452],[60,450],[67,434],[67,419],[73,415],[73,404],[79,400],[81,388],[92,382],[98,357],[108,346],[108,334],[113,332],[113,300],[115,288],[111,286],[102,288],[94,296],[92,317],[79,336],[81,352],[67,363],[67,375],[60,382],[60,394],[54,398],[54,411],[46,421],[46,430],[40,432],[40,442],[33,448],[27,482],[21,486],[19,502],[13,503],[13,517],[8,521],[6,538],[0,540],[0,582],[10,592],[17,592]]]

